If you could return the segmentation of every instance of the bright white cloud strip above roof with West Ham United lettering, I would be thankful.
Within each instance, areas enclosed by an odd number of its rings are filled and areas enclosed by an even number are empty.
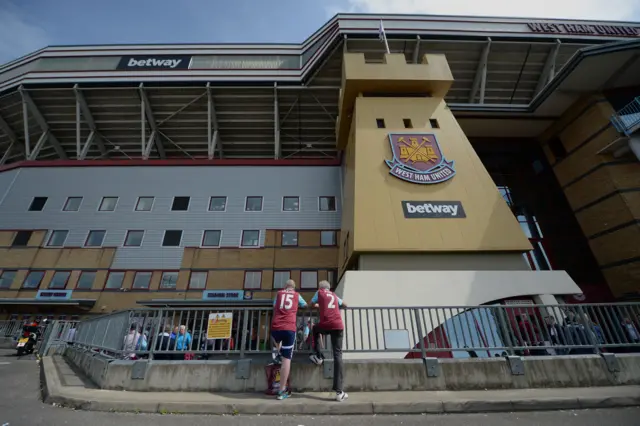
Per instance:
[[[638,20],[638,0],[342,0],[342,12]],[[329,9],[338,10],[334,3]]]

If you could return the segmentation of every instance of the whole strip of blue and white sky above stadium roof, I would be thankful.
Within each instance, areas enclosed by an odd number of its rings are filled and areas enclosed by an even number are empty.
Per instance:
[[[640,21],[640,0],[0,0],[0,64],[48,45],[299,43],[336,13]]]

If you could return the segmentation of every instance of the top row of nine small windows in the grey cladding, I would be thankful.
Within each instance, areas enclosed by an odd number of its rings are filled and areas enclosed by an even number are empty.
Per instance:
[[[44,206],[49,200],[48,197],[34,197],[29,205],[29,211],[40,212],[44,210]],[[99,212],[113,212],[118,206],[119,197],[102,197],[102,201],[98,205]],[[77,212],[80,211],[83,197],[68,197],[67,201],[62,207],[62,211],[65,212]],[[138,197],[136,206],[134,208],[137,212],[150,212],[153,210],[153,204],[155,197]],[[173,197],[171,203],[171,211],[189,211],[189,204],[191,203],[191,197]],[[263,197],[246,197],[244,203],[244,211],[246,212],[261,212],[263,204]],[[227,197],[211,197],[209,199],[210,212],[224,212],[227,210]],[[300,197],[282,197],[282,211],[284,212],[298,212],[300,211]],[[336,197],[318,197],[318,211],[321,212],[334,212],[336,211]]]

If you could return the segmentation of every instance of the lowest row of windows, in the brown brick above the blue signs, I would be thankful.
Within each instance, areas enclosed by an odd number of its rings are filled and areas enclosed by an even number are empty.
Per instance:
[[[110,271],[104,284],[104,290],[119,290],[122,288],[126,271]],[[16,278],[17,271],[5,270],[0,274],[0,289],[11,288]],[[76,290],[91,290],[96,280],[97,271],[82,271]],[[207,287],[208,271],[192,271],[189,276],[190,290],[204,290]],[[40,284],[44,278],[44,271],[31,271],[27,274],[22,282],[22,289],[36,290],[40,288]],[[134,290],[148,290],[151,284],[151,271],[136,271],[131,286]],[[56,271],[51,277],[47,288],[55,290],[64,290],[67,288],[71,271]],[[280,270],[273,274],[273,288],[284,288],[287,280],[291,278],[291,271]],[[333,282],[334,271],[329,271],[330,282]],[[160,280],[161,290],[173,290],[178,282],[178,271],[165,271],[162,273]],[[245,271],[244,288],[246,290],[260,290],[262,288],[262,271]],[[300,289],[313,290],[318,288],[318,271],[308,270],[300,272]]]

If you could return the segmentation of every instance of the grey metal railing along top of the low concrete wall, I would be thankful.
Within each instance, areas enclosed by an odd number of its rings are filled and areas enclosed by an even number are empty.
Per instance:
[[[272,352],[271,316],[268,308],[121,311],[79,323],[74,344],[116,358],[253,357]],[[351,358],[640,352],[640,303],[361,307],[342,316]],[[310,350],[305,325],[314,323],[317,312],[299,312],[298,351]]]

